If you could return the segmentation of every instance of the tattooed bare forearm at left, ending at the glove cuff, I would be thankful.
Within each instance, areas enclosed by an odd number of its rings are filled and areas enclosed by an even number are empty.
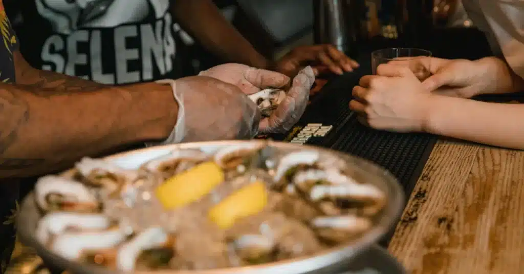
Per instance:
[[[110,87],[21,61],[15,52],[19,83],[0,83],[0,178],[56,172],[82,156],[165,139],[176,123],[167,86]]]

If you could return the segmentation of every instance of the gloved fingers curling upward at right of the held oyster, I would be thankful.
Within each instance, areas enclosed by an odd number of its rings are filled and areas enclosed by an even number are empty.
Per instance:
[[[305,111],[309,101],[309,91],[315,76],[311,67],[300,70],[293,78],[291,89],[286,92],[286,98],[278,105],[277,109],[260,121],[260,133],[283,133],[298,122]]]

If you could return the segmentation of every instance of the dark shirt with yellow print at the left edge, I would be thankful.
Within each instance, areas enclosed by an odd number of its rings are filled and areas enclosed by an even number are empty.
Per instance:
[[[15,82],[13,51],[17,50],[18,43],[5,14],[2,0],[0,0],[0,29],[2,30],[0,81],[13,83]],[[18,209],[18,188],[16,181],[0,181],[0,273],[5,271],[15,245],[14,216]]]

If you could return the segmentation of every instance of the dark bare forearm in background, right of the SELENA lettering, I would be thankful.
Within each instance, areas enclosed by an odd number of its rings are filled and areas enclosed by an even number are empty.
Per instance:
[[[171,10],[202,45],[228,61],[267,68],[268,60],[233,27],[212,0],[171,1]]]

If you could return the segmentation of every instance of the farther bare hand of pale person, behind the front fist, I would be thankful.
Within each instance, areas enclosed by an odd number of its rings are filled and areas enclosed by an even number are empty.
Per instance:
[[[416,72],[426,89],[444,96],[471,98],[478,94],[495,92],[506,87],[497,87],[503,75],[501,69],[506,67],[504,61],[496,58],[484,58],[477,61],[466,59],[427,58],[428,62],[416,60],[392,60],[391,65],[406,66]],[[417,62],[417,63],[416,63]],[[498,63],[498,64],[497,64]],[[428,73],[420,72],[424,66]],[[509,73],[509,70],[506,69]],[[507,77],[510,77],[509,74]]]

